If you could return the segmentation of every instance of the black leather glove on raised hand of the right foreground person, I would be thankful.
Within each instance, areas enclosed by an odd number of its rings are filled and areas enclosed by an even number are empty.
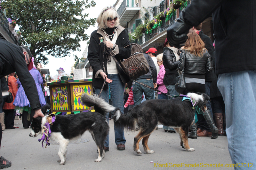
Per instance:
[[[180,45],[188,39],[188,30],[192,28],[193,26],[190,26],[188,23],[185,22],[183,19],[184,16],[184,10],[180,13],[180,18],[177,19],[177,22],[172,24],[167,29],[167,40],[171,44],[177,44]]]

